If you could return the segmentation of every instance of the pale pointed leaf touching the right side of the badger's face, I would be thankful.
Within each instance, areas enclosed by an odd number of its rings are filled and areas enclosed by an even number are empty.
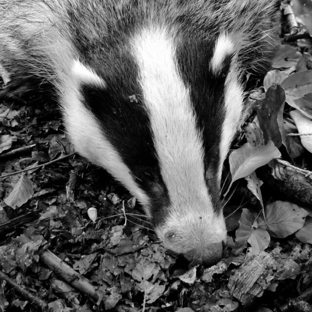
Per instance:
[[[232,174],[231,185],[234,181],[242,177],[250,176],[254,170],[280,156],[281,153],[272,141],[269,141],[266,145],[260,145],[257,147],[245,143],[242,147],[233,151],[229,156],[230,171]]]

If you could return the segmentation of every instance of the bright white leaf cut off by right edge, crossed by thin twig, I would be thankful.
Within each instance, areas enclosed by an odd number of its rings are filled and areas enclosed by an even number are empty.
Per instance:
[[[312,120],[306,117],[298,110],[291,111],[290,116],[297,126],[300,136],[301,144],[306,150],[312,153]],[[310,135],[309,135],[310,134]]]

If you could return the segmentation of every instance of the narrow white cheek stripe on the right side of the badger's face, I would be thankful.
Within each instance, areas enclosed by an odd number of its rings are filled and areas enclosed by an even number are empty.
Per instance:
[[[243,90],[238,83],[238,73],[239,70],[235,68],[235,59],[233,59],[225,80],[225,118],[220,141],[219,182],[221,181],[223,162],[228,155],[243,110]]]

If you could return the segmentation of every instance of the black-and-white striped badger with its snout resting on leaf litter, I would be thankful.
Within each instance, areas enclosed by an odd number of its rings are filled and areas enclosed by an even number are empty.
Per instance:
[[[136,196],[163,245],[214,263],[243,76],[272,50],[272,0],[0,0],[0,64],[53,97],[79,154]]]

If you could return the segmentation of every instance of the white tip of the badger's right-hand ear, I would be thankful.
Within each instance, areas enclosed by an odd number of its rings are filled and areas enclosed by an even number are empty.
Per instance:
[[[213,73],[217,74],[222,69],[224,59],[233,52],[234,44],[231,38],[221,34],[215,43],[215,51],[210,63]]]

